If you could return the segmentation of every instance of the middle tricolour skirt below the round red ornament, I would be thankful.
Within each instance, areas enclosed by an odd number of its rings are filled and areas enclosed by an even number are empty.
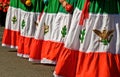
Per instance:
[[[30,61],[56,64],[77,2],[77,0],[66,1],[68,4],[65,7],[70,7],[69,9],[66,9],[59,0],[49,0],[47,5],[49,9],[44,10],[41,16],[36,38],[31,47]],[[48,29],[42,30],[43,27]]]

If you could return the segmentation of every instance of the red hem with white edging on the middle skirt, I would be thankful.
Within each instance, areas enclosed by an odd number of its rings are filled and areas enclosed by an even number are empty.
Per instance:
[[[63,43],[34,39],[30,47],[30,61],[56,64],[63,46]]]

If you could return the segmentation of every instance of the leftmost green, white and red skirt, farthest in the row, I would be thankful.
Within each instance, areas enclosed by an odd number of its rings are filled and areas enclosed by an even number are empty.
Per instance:
[[[6,14],[5,29],[2,38],[2,46],[17,48],[18,37],[20,35],[18,16],[18,0],[11,0]]]

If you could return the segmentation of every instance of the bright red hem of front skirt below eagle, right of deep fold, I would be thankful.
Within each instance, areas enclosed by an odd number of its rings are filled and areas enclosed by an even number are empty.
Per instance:
[[[120,77],[120,54],[79,53],[76,77]]]

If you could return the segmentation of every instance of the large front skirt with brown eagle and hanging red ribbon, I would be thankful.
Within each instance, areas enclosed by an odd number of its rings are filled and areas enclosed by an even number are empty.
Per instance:
[[[55,77],[120,77],[120,0],[78,0]]]

